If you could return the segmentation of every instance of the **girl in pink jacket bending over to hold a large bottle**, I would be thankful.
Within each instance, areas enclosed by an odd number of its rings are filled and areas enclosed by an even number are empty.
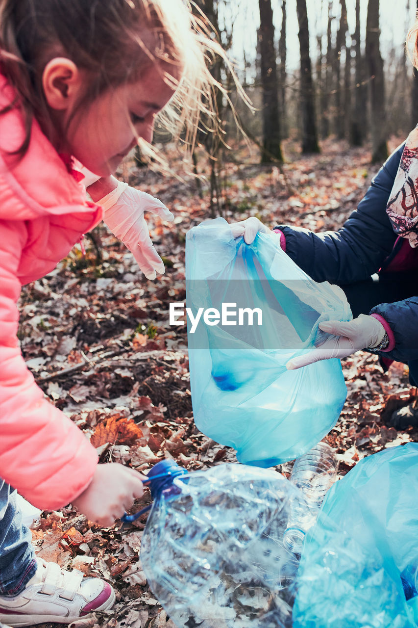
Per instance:
[[[0,3],[0,621],[8,625],[68,624],[115,599],[100,578],[37,560],[21,524],[11,486],[41,509],[72,502],[111,525],[141,497],[143,478],[98,465],[87,438],[45,400],[19,350],[16,303],[22,284],[50,272],[100,222],[102,205],[144,274],[164,272],[143,212],[170,212],[111,175],[134,144],[149,146],[161,109],[189,135],[207,113],[205,56],[217,45],[202,28],[182,0]],[[88,187],[93,202],[75,160],[100,177]]]

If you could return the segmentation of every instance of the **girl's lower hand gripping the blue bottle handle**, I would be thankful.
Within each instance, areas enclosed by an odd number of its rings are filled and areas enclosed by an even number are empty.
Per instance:
[[[142,496],[144,480],[144,475],[118,462],[97,465],[92,481],[81,495],[73,499],[73,506],[88,521],[112,526],[115,519],[131,509],[134,499]]]

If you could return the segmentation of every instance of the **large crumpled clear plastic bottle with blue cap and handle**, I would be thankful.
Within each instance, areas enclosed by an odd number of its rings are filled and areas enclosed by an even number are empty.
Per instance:
[[[283,535],[303,494],[277,472],[239,464],[188,474],[166,460],[148,478],[142,567],[173,622],[290,628],[298,561]]]

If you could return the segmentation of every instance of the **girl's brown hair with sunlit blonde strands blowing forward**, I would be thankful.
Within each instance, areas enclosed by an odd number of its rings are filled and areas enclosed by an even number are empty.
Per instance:
[[[222,85],[209,69],[215,55],[226,60],[203,14],[193,15],[183,0],[0,0],[0,71],[16,90],[0,114],[20,107],[26,129],[14,152],[18,158],[26,153],[33,117],[49,135],[41,78],[46,63],[61,56],[88,76],[77,111],[158,63],[176,89],[159,126],[174,138],[182,132],[184,143],[193,146],[202,113],[206,127],[208,120],[212,129],[217,126],[214,92]],[[170,73],[173,65],[182,70],[179,82],[173,79],[178,71]]]

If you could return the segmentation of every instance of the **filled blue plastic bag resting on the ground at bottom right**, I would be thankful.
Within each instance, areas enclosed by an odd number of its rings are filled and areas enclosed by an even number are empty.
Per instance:
[[[333,485],[305,539],[294,628],[418,625],[417,495],[417,443],[363,458]]]

